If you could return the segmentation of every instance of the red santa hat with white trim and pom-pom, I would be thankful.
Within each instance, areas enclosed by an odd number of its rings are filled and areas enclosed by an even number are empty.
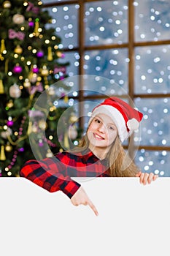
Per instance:
[[[136,129],[139,128],[139,122],[143,114],[132,108],[128,103],[117,97],[105,99],[100,105],[93,109],[89,120],[98,114],[106,114],[114,121],[120,140],[126,140]]]

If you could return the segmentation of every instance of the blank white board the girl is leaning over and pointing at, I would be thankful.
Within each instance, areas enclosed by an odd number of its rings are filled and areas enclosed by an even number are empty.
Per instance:
[[[25,178],[0,178],[2,256],[170,255],[170,178],[81,181],[98,209]]]

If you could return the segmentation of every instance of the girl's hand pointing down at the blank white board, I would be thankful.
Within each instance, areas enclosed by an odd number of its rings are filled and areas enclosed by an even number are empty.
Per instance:
[[[98,211],[96,207],[93,205],[91,200],[88,198],[88,195],[85,193],[85,190],[80,187],[77,192],[72,196],[71,202],[74,206],[79,206],[80,204],[84,206],[90,206],[92,208],[93,212],[98,216]]]

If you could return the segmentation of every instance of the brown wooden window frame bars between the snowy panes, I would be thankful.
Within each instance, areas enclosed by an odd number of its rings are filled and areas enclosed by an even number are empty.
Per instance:
[[[83,69],[84,65],[84,56],[86,50],[106,50],[106,49],[113,49],[113,48],[127,48],[128,49],[128,96],[135,101],[136,98],[143,98],[143,99],[161,99],[164,97],[170,97],[170,93],[167,94],[135,94],[134,93],[134,69],[135,69],[135,49],[138,47],[145,47],[145,46],[154,46],[154,45],[170,45],[169,40],[158,40],[158,41],[145,41],[145,42],[135,42],[134,39],[134,24],[135,24],[135,10],[134,10],[134,0],[128,0],[128,42],[123,44],[109,44],[109,45],[85,45],[85,23],[84,14],[85,14],[85,4],[89,2],[101,2],[96,0],[72,0],[72,1],[54,1],[53,3],[43,4],[44,8],[48,7],[58,7],[64,5],[71,5],[71,4],[79,4],[80,8],[78,10],[78,47],[73,47],[72,49],[63,48],[63,52],[75,52],[79,53],[80,55],[80,65],[78,69],[78,75],[84,75],[85,70]],[[112,1],[112,0],[110,0]],[[78,101],[82,102],[83,100],[88,99],[102,99],[104,96],[87,96],[83,95],[82,90],[82,83],[80,81],[80,94],[77,97]],[[80,109],[80,116],[82,113],[82,109]],[[83,119],[80,120],[80,127],[83,127]],[[131,143],[132,140],[129,140],[128,147],[129,154],[131,157],[134,157],[134,151],[136,150],[134,143]],[[138,149],[144,149],[148,151],[170,151],[170,146],[148,146],[142,145],[138,146]]]

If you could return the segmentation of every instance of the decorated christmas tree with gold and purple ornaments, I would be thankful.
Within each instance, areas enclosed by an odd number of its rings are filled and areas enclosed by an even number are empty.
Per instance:
[[[0,0],[0,176],[18,176],[23,163],[34,158],[28,137],[34,138],[42,157],[61,148],[56,124],[68,104],[67,87],[62,83],[68,63],[59,64],[64,57],[58,49],[61,39],[53,28],[47,29],[50,20],[42,1]],[[34,111],[36,122],[30,127],[36,99],[58,80],[65,105],[56,108],[50,102],[45,121],[42,103],[42,108]],[[43,130],[45,138],[38,136]],[[47,149],[46,155],[44,148],[41,153],[44,143],[52,149]]]

